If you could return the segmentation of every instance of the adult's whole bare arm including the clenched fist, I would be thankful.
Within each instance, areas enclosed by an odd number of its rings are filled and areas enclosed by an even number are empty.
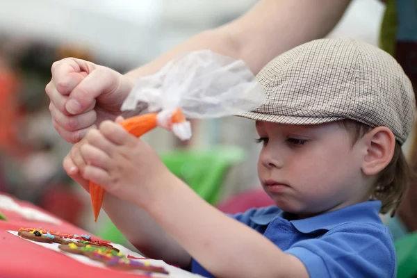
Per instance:
[[[199,33],[124,75],[85,60],[60,60],[52,65],[46,88],[54,127],[68,142],[79,142],[92,126],[120,115],[122,101],[136,79],[154,74],[184,51],[211,49],[240,58],[257,74],[282,52],[329,33],[349,2],[263,0],[235,21]]]

